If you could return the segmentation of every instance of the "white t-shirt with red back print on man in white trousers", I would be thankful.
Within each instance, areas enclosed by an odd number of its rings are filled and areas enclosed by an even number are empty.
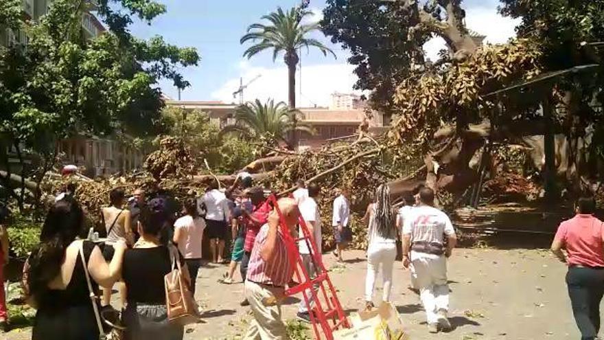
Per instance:
[[[403,234],[411,235],[411,242],[444,244],[445,235],[455,235],[449,216],[435,207],[421,205],[411,210],[410,218],[405,218]]]

